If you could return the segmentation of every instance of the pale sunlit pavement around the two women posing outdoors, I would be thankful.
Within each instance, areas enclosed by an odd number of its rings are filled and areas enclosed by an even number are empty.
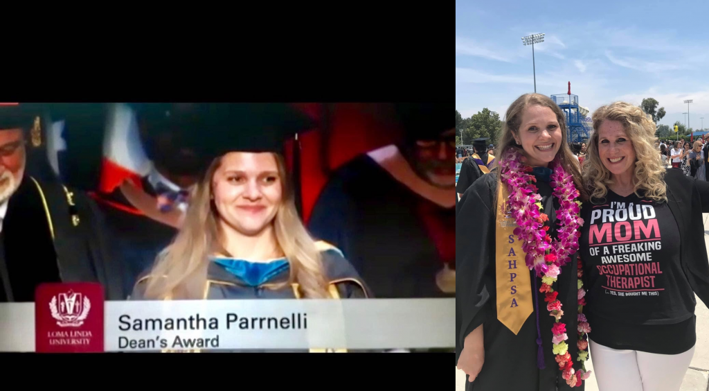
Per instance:
[[[709,214],[704,214],[704,244],[709,251]],[[709,334],[703,330],[709,329],[709,309],[697,297],[697,343],[694,357],[684,376],[681,391],[709,391]],[[591,325],[593,327],[593,325]],[[586,369],[593,370],[593,352],[591,352],[591,360],[587,361]],[[465,375],[462,371],[456,369],[455,389],[456,391],[465,390]],[[596,378],[591,375],[591,378],[586,380],[586,391],[598,391],[598,383]]]

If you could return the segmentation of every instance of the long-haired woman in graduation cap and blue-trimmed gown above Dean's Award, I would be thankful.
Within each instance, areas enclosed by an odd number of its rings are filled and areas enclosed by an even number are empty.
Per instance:
[[[212,129],[227,124],[234,147],[208,166],[182,228],[131,299],[369,297],[340,250],[311,238],[298,216],[281,150],[307,120],[275,104],[211,108],[208,115]]]

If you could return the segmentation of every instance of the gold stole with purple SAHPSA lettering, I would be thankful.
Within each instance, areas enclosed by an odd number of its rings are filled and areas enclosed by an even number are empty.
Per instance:
[[[507,185],[500,184],[496,221],[495,270],[497,319],[515,335],[532,314],[530,270],[525,265],[522,243],[513,231],[517,222],[508,204]]]

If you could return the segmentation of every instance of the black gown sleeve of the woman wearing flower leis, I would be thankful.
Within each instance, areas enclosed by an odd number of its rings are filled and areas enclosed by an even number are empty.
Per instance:
[[[490,292],[496,287],[485,284],[490,251],[494,248],[492,194],[495,174],[484,176],[469,187],[459,202],[455,219],[456,263],[456,362],[470,331],[493,316]]]

